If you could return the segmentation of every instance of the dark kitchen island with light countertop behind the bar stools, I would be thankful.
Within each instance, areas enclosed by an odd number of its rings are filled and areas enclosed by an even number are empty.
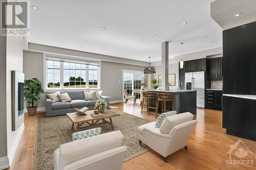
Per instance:
[[[174,95],[174,110],[177,114],[190,112],[197,114],[197,90],[154,90],[147,91],[172,93]],[[156,100],[150,100],[150,106],[156,107]],[[158,112],[162,113],[163,102],[160,102]],[[166,102],[166,110],[172,110],[171,102]]]

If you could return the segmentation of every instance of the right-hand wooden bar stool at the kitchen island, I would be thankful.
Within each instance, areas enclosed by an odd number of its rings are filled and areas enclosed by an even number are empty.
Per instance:
[[[174,110],[174,95],[170,93],[157,93],[156,117],[160,102],[163,102],[162,113],[169,111],[166,110],[166,102],[172,102],[172,111]]]

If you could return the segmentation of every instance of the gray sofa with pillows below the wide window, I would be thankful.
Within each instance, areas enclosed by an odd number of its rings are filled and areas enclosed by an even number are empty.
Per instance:
[[[74,112],[74,108],[81,109],[82,107],[86,106],[90,110],[94,109],[95,103],[97,100],[84,100],[84,92],[83,91],[60,91],[62,93],[68,93],[71,102],[61,103],[55,102],[52,103],[51,99],[48,98],[46,95],[46,116],[58,116],[58,115],[65,115],[66,113]],[[47,94],[54,93],[54,92],[46,92]],[[101,96],[101,99],[107,103],[106,109],[110,108],[110,98],[108,96]]]

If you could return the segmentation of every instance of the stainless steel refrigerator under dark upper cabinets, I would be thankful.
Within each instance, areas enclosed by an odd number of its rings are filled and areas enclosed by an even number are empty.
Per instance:
[[[185,73],[186,90],[197,90],[197,107],[204,108],[204,71]]]

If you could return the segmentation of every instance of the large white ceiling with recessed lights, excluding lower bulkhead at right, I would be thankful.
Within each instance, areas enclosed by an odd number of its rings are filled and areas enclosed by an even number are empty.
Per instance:
[[[38,10],[31,8],[28,41],[139,61],[148,61],[148,57],[152,57],[151,62],[160,61],[163,41],[171,41],[169,58],[180,55],[180,42],[184,42],[183,54],[222,46],[222,28],[210,17],[211,2],[32,0],[31,5]],[[187,25],[182,26],[182,22]]]

